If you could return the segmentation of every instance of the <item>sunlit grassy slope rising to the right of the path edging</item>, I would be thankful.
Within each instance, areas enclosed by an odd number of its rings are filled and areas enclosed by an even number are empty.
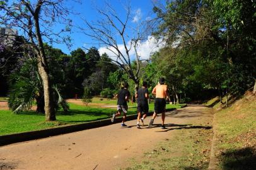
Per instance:
[[[209,103],[219,107],[216,101]],[[256,169],[256,96],[248,91],[228,108],[218,110],[214,119],[218,169]]]

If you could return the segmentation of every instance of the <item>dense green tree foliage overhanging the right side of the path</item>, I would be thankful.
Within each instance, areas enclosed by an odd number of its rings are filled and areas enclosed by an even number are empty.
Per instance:
[[[154,54],[157,72],[173,94],[205,99],[207,93],[239,95],[256,76],[256,4],[253,1],[170,1],[154,7],[154,35],[166,47]],[[185,95],[186,94],[186,95]]]

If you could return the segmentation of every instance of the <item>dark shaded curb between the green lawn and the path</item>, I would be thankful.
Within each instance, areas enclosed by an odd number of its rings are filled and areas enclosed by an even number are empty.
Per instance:
[[[185,107],[187,105],[182,106]],[[166,111],[176,110],[175,108],[166,109]],[[149,112],[149,115],[153,115],[153,111]],[[137,118],[137,114],[135,115],[128,115],[126,120],[135,120]],[[116,118],[115,123],[122,122],[122,117]],[[103,119],[103,120],[96,120],[93,122],[88,123],[81,123],[77,125],[66,125],[62,127],[55,127],[55,128],[47,128],[44,130],[36,130],[31,132],[22,132],[22,133],[15,133],[11,135],[3,135],[0,136],[0,146],[15,144],[17,142],[25,142],[28,140],[35,140],[35,139],[42,139],[46,137],[52,137],[56,135],[61,135],[65,133],[72,133],[78,132],[81,130],[86,130],[90,128],[97,128],[97,127],[104,127],[107,125],[112,125],[110,118]]]

